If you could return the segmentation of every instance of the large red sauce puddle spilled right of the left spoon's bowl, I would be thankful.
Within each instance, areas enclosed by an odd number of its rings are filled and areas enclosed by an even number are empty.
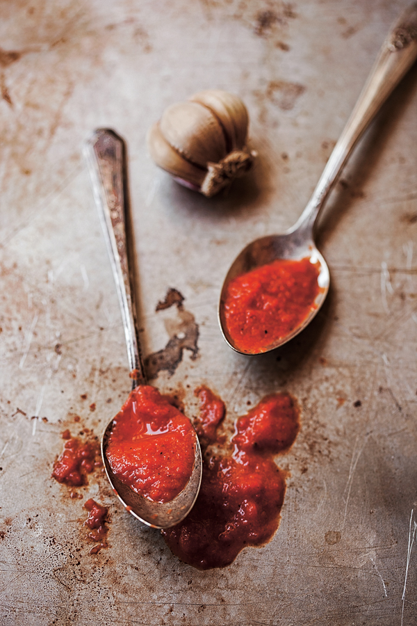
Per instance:
[[[205,387],[197,394],[202,405],[197,428],[204,434],[208,429],[211,443],[220,443],[223,439],[216,432],[224,405],[220,412],[222,401]],[[200,570],[224,567],[244,547],[272,538],[286,490],[284,473],[273,456],[293,444],[299,428],[295,401],[288,394],[274,394],[238,418],[233,449],[223,456],[206,449],[193,509],[183,522],[162,531],[181,561]]]

